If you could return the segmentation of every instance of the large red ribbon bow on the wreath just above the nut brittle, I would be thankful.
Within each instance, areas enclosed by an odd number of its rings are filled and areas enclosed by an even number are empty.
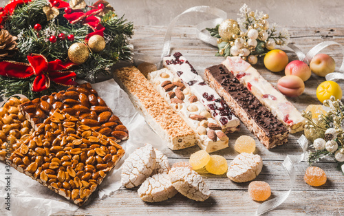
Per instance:
[[[32,85],[33,91],[43,91],[50,87],[50,80],[59,85],[72,86],[77,83],[74,81],[76,74],[66,71],[73,65],[72,62],[63,63],[61,60],[47,61],[43,55],[32,54],[28,56],[30,64],[14,61],[0,62],[0,75],[10,78],[29,78],[36,76]]]

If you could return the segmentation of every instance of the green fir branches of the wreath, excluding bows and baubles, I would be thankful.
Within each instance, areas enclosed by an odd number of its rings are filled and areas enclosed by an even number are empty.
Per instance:
[[[86,43],[87,34],[93,32],[87,25],[82,23],[70,24],[63,17],[63,8],[59,9],[57,17],[47,21],[43,7],[49,5],[47,0],[35,0],[27,4],[17,6],[13,14],[2,23],[3,28],[13,36],[17,36],[17,54],[3,60],[28,63],[27,56],[30,54],[43,54],[47,61],[60,59],[67,61],[68,49],[73,43]],[[84,8],[84,12],[92,10],[91,7]],[[124,17],[118,17],[115,12],[107,12],[101,17],[100,22],[104,27],[105,50],[99,53],[90,52],[89,58],[82,65],[76,65],[70,69],[76,72],[78,78],[94,82],[100,74],[109,75],[109,69],[118,61],[131,61],[132,49],[129,39],[133,35],[133,23]],[[41,24],[42,29],[37,32],[34,25]],[[63,33],[67,37],[74,35],[74,41],[58,40],[56,43],[49,41],[50,36],[58,36]],[[31,89],[34,77],[19,79],[0,76],[0,85],[3,86],[0,94],[10,96],[12,94],[24,94],[29,98],[36,98],[43,94],[51,94],[53,91],[64,89],[63,86],[51,83],[46,91],[33,92]]]

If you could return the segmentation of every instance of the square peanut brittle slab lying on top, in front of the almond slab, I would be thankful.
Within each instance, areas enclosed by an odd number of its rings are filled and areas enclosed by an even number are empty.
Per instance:
[[[57,109],[10,161],[21,173],[81,206],[124,154],[114,140]]]

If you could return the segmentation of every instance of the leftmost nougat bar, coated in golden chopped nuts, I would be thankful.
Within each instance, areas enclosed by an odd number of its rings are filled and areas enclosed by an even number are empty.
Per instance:
[[[194,131],[169,106],[136,67],[123,67],[115,72],[116,80],[133,105],[172,150],[185,149],[197,144]]]

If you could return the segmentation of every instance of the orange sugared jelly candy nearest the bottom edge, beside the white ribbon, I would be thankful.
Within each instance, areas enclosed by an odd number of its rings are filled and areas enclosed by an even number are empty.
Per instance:
[[[260,181],[251,182],[248,184],[248,193],[255,201],[265,201],[271,195],[270,185]]]

